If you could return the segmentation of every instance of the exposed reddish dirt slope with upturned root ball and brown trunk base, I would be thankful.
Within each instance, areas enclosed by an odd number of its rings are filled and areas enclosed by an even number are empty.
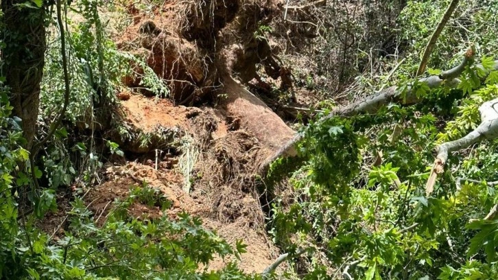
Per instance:
[[[126,152],[126,163],[107,163],[104,180],[84,200],[103,224],[112,202],[145,181],[171,201],[169,218],[187,211],[228,242],[244,240],[248,252],[240,268],[261,272],[279,252],[265,233],[257,170],[294,130],[231,75],[252,80],[255,63],[275,79],[282,73],[269,43],[254,39],[259,21],[270,20],[281,1],[203,1],[169,0],[147,12],[133,3],[126,7],[132,21],[115,38],[117,46],[144,58],[170,95],[150,97],[144,69],[132,63],[134,73],[122,78],[128,89],[117,93],[121,117],[133,133],[155,138],[145,146],[136,139],[114,140]],[[139,202],[129,211],[137,218],[163,215],[158,206]],[[216,259],[209,268],[224,264]]]

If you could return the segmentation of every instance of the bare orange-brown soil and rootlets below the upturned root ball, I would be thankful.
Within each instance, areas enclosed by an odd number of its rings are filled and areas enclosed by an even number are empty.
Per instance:
[[[131,95],[130,99],[121,101],[121,105],[126,119],[134,127],[150,132],[158,126],[176,127],[195,139],[193,145],[200,154],[193,170],[193,186],[190,194],[183,189],[186,181],[179,166],[182,151],[178,151],[177,156],[160,156],[157,170],[154,156],[147,154],[124,165],[109,163],[104,183],[86,197],[87,202],[93,202],[91,209],[95,216],[106,213],[111,201],[126,197],[130,186],[140,186],[145,180],[149,187],[160,189],[171,200],[171,208],[166,211],[169,218],[175,219],[178,213],[185,211],[202,218],[206,229],[217,232],[231,244],[244,240],[248,247],[247,253],[241,256],[241,269],[262,272],[272,264],[278,257],[278,249],[266,236],[263,213],[254,189],[245,189],[251,185],[244,182],[250,180],[250,174],[246,173],[248,170],[231,170],[224,166],[250,168],[244,165],[252,164],[247,157],[251,156],[250,150],[253,156],[258,150],[257,140],[244,130],[234,130],[233,123],[227,124],[220,111],[210,107],[174,106],[168,100],[140,94]],[[161,215],[159,209],[139,204],[134,205],[130,213],[144,218]],[[228,260],[233,259],[225,261]],[[215,259],[209,269],[222,268],[225,261]]]

